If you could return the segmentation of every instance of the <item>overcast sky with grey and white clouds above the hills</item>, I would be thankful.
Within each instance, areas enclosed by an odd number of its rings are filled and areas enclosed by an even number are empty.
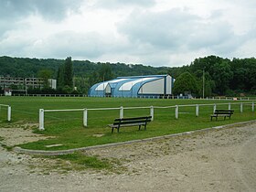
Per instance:
[[[0,0],[0,56],[179,67],[256,57],[256,0]]]

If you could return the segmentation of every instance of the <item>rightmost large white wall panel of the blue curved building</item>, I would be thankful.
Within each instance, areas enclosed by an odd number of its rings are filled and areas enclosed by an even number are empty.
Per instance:
[[[139,90],[140,94],[164,94],[164,79],[154,80],[145,83]]]

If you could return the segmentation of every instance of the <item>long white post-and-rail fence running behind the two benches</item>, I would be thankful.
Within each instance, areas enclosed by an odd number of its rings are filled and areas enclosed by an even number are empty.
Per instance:
[[[240,112],[243,112],[244,105],[251,106],[251,112],[254,112],[254,101],[252,102],[240,102],[240,103],[213,103],[213,104],[190,104],[190,105],[175,105],[175,106],[165,106],[165,107],[157,107],[157,106],[149,106],[149,107],[119,107],[119,108],[96,108],[96,109],[68,109],[68,110],[39,110],[39,130],[44,130],[44,113],[45,112],[82,112],[83,113],[83,126],[88,126],[88,112],[89,111],[111,111],[111,110],[119,110],[119,117],[123,118],[124,110],[132,110],[132,109],[149,109],[149,115],[152,116],[152,121],[154,120],[155,109],[175,109],[175,118],[178,119],[179,109],[181,107],[195,107],[195,114],[199,116],[199,108],[200,106],[212,106],[213,112],[217,109],[217,105],[228,105],[228,109],[231,109],[231,105],[240,105]]]

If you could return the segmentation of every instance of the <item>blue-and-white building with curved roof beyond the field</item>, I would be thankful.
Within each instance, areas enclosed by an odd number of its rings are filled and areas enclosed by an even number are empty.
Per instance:
[[[172,94],[174,79],[169,75],[119,77],[93,85],[90,97],[163,97]]]

